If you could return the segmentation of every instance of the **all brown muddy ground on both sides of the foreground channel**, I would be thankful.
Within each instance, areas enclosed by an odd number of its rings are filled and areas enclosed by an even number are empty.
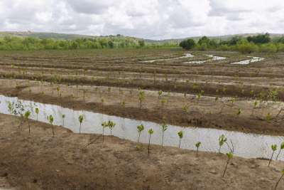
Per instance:
[[[179,58],[183,53],[195,57]],[[206,60],[207,54],[226,59],[182,64]],[[165,116],[169,124],[184,127],[283,135],[284,91],[278,91],[273,101],[267,95],[273,86],[283,88],[284,54],[254,53],[245,56],[265,59],[249,67],[231,64],[249,59],[243,56],[229,51],[121,49],[0,52],[0,94],[159,123]],[[151,59],[165,60],[140,62]],[[142,102],[138,88],[145,97]],[[255,107],[259,93],[266,97]],[[271,120],[266,122],[268,112]],[[60,126],[55,126],[53,137],[49,124],[33,120],[31,134],[26,120],[19,134],[14,116],[0,116],[0,189],[274,189],[284,168],[280,161],[268,167],[266,159],[233,157],[222,178],[224,154],[199,152],[197,157],[194,150],[161,151],[160,145],[151,144],[148,156],[148,144],[113,136],[105,136],[103,142],[100,134],[75,134]],[[278,189],[283,187],[280,181]]]

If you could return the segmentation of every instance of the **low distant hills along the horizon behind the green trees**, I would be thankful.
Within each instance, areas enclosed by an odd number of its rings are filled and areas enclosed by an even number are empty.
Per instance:
[[[69,34],[69,33],[46,33],[46,32],[17,32],[17,31],[2,31],[0,32],[0,38],[3,38],[4,36],[9,35],[11,37],[16,36],[18,38],[27,38],[29,36],[32,37],[38,37],[39,39],[43,38],[53,38],[55,40],[75,40],[76,38],[132,38],[135,43],[138,43],[138,40],[141,40],[143,38],[134,38],[134,37],[128,37],[128,36],[88,36],[88,35],[80,35],[80,34]],[[257,36],[258,33],[238,33],[234,35],[224,35],[224,36],[207,36],[208,38],[219,38],[222,40],[229,40],[233,38],[234,36],[244,36],[246,38],[247,36]],[[270,33],[271,38],[276,36],[282,36],[282,33]],[[198,40],[202,36],[193,36],[188,38],[193,38],[195,40]],[[168,41],[184,41],[188,38],[178,38],[178,39],[165,39],[165,40],[150,40],[150,39],[144,39],[144,41],[148,43],[165,43]]]

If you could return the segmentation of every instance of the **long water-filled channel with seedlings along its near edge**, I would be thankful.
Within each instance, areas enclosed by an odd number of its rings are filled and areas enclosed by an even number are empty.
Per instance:
[[[0,112],[9,114],[8,103],[6,101],[15,102],[18,100],[17,97],[5,97],[0,95]],[[21,100],[23,101],[23,100]],[[34,105],[34,103],[36,105]],[[78,117],[84,115],[82,122],[82,133],[97,133],[102,134],[102,123],[111,121],[116,124],[112,130],[112,134],[119,138],[129,139],[137,142],[138,132],[137,126],[143,124],[145,130],[141,132],[139,142],[148,143],[149,134],[148,130],[154,130],[151,135],[151,144],[161,144],[162,142],[162,127],[160,124],[155,122],[146,122],[141,120],[131,120],[122,117],[109,116],[94,112],[87,111],[75,111],[68,108],[63,108],[58,105],[47,105],[33,101],[24,101],[24,105],[29,105],[26,110],[31,111],[30,118],[36,120],[37,116],[35,113],[35,107],[38,107],[38,121],[47,122],[47,116],[53,115],[53,125],[63,125],[62,115],[66,115],[64,119],[64,127],[72,130],[73,132],[79,133],[80,122]],[[5,118],[2,118],[4,120]],[[31,131],[33,127],[31,126]],[[195,144],[201,142],[200,150],[206,152],[219,152],[219,136],[224,134],[227,138],[228,143],[231,146],[230,140],[234,144],[234,155],[245,158],[270,158],[271,157],[271,145],[277,144],[280,147],[281,142],[284,142],[282,136],[271,136],[263,134],[248,134],[243,132],[233,132],[226,130],[217,130],[210,128],[200,127],[179,127],[175,125],[168,125],[168,130],[164,133],[164,145],[170,147],[178,147],[179,136],[178,132],[182,130],[184,136],[181,140],[180,148],[182,149],[193,149],[195,150]],[[104,129],[105,135],[110,135],[111,130],[109,128]],[[56,132],[55,132],[56,135]],[[230,152],[229,147],[224,144],[221,148],[222,153]],[[278,151],[277,151],[278,154]],[[276,158],[277,154],[274,154],[273,159]],[[284,153],[280,152],[278,160],[284,160]]]

